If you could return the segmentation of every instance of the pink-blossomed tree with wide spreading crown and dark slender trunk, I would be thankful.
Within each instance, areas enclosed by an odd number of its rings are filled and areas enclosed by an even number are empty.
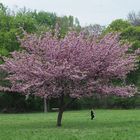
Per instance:
[[[23,50],[12,52],[0,65],[11,82],[11,87],[0,90],[58,98],[57,126],[61,126],[64,110],[75,99],[94,93],[133,96],[137,91],[132,85],[118,86],[111,82],[124,79],[137,67],[137,55],[128,52],[130,45],[119,43],[118,34],[96,40],[84,33],[70,32],[59,39],[47,32],[40,37],[26,34],[20,42]],[[65,103],[65,97],[71,101]]]

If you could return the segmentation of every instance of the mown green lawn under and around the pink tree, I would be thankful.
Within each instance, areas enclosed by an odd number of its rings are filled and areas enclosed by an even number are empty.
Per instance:
[[[0,114],[0,140],[140,140],[140,110],[64,112],[62,127],[57,113]]]

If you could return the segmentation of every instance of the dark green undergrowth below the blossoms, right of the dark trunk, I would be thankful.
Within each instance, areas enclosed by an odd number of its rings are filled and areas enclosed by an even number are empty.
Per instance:
[[[89,109],[92,107],[105,108],[105,109],[140,108],[140,97],[138,95],[131,98],[130,97],[121,98],[121,97],[116,97],[116,96],[104,96],[104,97],[94,96],[92,98],[76,100],[69,109],[78,110],[78,109]]]

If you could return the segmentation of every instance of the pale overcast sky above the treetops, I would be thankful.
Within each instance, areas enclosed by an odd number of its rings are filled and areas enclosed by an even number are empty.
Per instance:
[[[112,20],[126,19],[131,11],[140,11],[140,0],[0,0],[9,8],[27,7],[32,10],[55,12],[59,16],[77,17],[81,25],[107,25]]]

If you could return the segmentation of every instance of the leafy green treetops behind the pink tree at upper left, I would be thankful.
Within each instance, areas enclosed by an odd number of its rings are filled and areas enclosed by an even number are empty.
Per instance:
[[[68,32],[70,27],[78,27],[74,23],[73,16],[57,17],[55,13],[29,11],[26,8],[19,9],[17,13],[10,11],[0,4],[0,54],[7,56],[9,52],[19,50],[20,44],[17,35],[22,36],[22,29],[28,33],[42,33],[54,30],[56,23],[60,25],[60,36]]]

